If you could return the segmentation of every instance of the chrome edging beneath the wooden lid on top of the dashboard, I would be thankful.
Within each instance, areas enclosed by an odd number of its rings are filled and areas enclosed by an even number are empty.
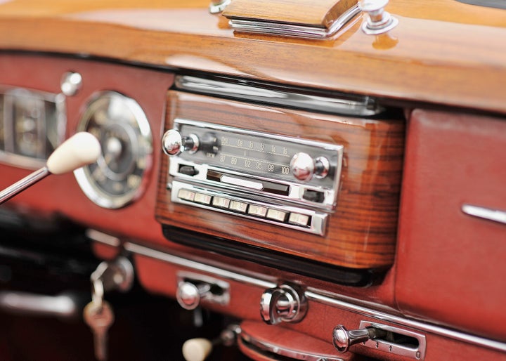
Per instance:
[[[357,4],[339,16],[329,28],[238,18],[230,18],[229,24],[236,32],[253,32],[256,34],[300,37],[304,39],[327,39],[335,35],[346,22],[349,22],[359,13],[361,13],[361,9]]]

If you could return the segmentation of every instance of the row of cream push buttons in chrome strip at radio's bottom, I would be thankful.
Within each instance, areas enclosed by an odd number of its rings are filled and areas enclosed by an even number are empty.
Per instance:
[[[266,204],[174,180],[171,201],[323,235],[327,214]]]

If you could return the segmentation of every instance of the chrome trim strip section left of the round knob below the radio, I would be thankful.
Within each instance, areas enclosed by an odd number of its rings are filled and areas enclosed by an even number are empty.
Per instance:
[[[126,242],[124,244],[124,249],[126,249],[126,251],[131,251],[134,254],[139,254],[141,256],[154,258],[159,261],[172,263],[174,265],[181,265],[181,267],[193,268],[194,270],[198,270],[200,272],[212,273],[213,275],[223,277],[227,280],[233,280],[233,281],[237,281],[237,282],[242,282],[244,284],[251,284],[252,286],[263,287],[263,288],[273,288],[273,287],[277,286],[277,284],[273,281],[261,280],[259,278],[260,275],[254,275],[254,277],[250,277],[250,276],[243,275],[240,273],[235,273],[232,271],[223,270],[221,268],[217,268],[212,265],[207,265],[205,263],[191,261],[186,258],[174,256],[172,254],[167,254],[162,251],[157,251],[156,249],[143,247],[139,244],[135,244],[135,243],[131,243],[131,242]]]

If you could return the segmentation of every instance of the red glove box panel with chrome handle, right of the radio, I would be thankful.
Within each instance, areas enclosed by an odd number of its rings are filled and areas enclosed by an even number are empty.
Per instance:
[[[407,145],[398,305],[506,340],[505,119],[415,110]]]

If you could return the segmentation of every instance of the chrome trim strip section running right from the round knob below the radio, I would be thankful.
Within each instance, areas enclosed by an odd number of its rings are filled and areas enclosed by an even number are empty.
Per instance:
[[[419,331],[430,332],[432,334],[438,334],[439,336],[445,336],[450,339],[464,341],[467,343],[473,343],[474,345],[477,346],[484,346],[486,348],[492,348],[494,350],[506,352],[506,343],[502,343],[499,341],[484,339],[479,336],[463,334],[462,332],[457,332],[451,329],[445,329],[443,327],[434,326],[433,324],[427,324],[420,321],[410,320],[408,318],[389,315],[381,311],[372,310],[370,308],[365,308],[363,306],[358,306],[352,303],[339,301],[336,298],[323,296],[321,294],[316,293],[316,291],[306,291],[306,297],[312,301],[323,303],[324,305],[327,306],[337,307],[342,310],[350,311],[353,313],[358,313],[359,315],[371,317],[374,318],[375,320],[381,320],[383,322],[391,322],[393,324],[398,324],[399,326],[412,327],[413,329],[417,329]]]

